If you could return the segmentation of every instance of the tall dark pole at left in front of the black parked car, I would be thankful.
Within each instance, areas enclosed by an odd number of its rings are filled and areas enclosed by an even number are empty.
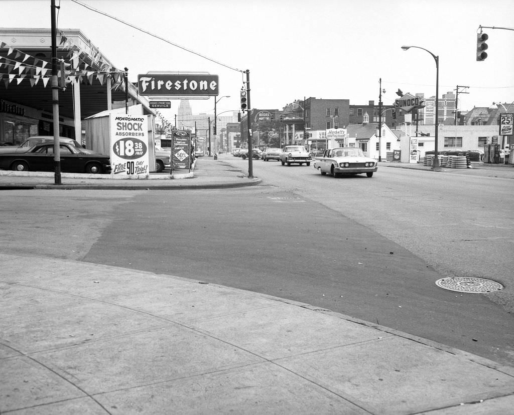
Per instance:
[[[57,82],[57,23],[56,0],[50,2],[52,36],[52,115],[53,115],[53,163],[54,184],[61,184],[61,153],[59,151],[59,84]]]

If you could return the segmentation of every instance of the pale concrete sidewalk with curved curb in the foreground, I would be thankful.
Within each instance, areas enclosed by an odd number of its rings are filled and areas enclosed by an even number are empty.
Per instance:
[[[267,295],[0,254],[0,413],[508,414],[514,368]]]

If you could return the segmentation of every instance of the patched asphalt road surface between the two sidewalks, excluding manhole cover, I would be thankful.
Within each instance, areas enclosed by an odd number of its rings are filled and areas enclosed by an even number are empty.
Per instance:
[[[262,186],[233,190],[4,192],[23,214],[0,240],[277,295],[511,364],[511,267],[497,260],[511,253],[512,211],[499,200],[511,181],[391,168],[334,179],[273,162],[254,174]],[[507,288],[436,287],[447,275]]]

